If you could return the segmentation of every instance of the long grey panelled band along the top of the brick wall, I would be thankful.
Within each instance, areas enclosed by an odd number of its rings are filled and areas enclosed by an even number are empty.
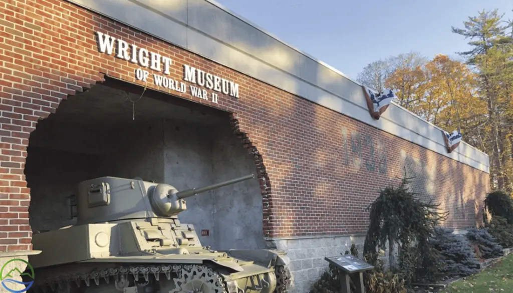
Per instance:
[[[374,120],[368,113],[359,82],[286,44],[215,0],[69,1],[282,91],[489,173],[487,154],[465,141],[457,150],[447,153],[441,128],[396,103],[390,104],[381,119]],[[267,49],[262,49],[264,47]],[[280,55],[269,54],[269,48],[277,50]],[[276,61],[277,56],[283,64]]]

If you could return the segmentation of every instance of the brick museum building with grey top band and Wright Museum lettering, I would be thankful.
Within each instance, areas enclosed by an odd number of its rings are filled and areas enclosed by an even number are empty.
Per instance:
[[[448,152],[394,103],[373,118],[359,83],[210,0],[0,11],[0,265],[45,254],[32,236],[74,225],[67,197],[103,176],[184,190],[254,174],[188,198],[180,221],[213,249],[284,250],[294,292],[361,247],[365,208],[404,170],[444,225],[482,219],[486,154]]]

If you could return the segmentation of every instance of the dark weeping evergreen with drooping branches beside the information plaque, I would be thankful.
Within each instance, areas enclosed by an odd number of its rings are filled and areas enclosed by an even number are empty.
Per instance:
[[[412,178],[404,177],[398,187],[389,186],[369,205],[370,225],[364,244],[364,255],[376,256],[376,248],[389,247],[389,265],[406,282],[411,284],[419,268],[437,270],[436,253],[429,239],[435,227],[445,220],[446,213],[439,213],[437,204],[423,202],[410,192],[408,184]],[[399,246],[399,263],[393,253]],[[430,259],[434,258],[434,259]],[[376,261],[373,259],[372,261]],[[431,272],[432,273],[432,272]],[[434,274],[427,274],[434,276]]]

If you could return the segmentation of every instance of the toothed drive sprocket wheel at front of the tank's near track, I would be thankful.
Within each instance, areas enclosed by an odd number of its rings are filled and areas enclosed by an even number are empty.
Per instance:
[[[184,265],[170,293],[227,293],[221,276],[204,265]]]

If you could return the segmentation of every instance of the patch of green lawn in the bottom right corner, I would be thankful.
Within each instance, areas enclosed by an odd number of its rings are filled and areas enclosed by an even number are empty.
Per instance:
[[[440,293],[513,292],[513,254],[479,274],[449,284]]]

